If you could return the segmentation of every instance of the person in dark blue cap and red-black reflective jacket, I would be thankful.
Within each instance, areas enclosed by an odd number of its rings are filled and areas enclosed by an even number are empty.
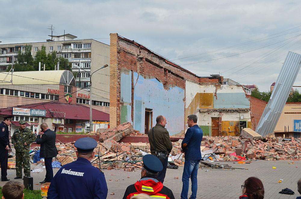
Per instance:
[[[163,169],[161,161],[151,154],[144,155],[142,161],[144,165],[141,179],[126,188],[123,199],[130,199],[137,194],[147,194],[151,198],[175,199],[172,191],[157,179],[158,172]]]

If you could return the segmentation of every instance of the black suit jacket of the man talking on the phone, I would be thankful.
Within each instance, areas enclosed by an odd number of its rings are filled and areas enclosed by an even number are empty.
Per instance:
[[[41,145],[40,157],[41,158],[53,158],[58,152],[55,146],[56,134],[53,130],[47,129],[44,134],[37,136],[37,144]]]

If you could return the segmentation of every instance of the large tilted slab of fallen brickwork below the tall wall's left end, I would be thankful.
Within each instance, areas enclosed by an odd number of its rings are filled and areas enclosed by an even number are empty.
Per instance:
[[[116,128],[108,130],[106,132],[100,133],[99,140],[104,142],[105,140],[114,140],[118,142],[124,136],[127,136],[133,133],[134,129],[131,123],[126,122],[120,124]]]

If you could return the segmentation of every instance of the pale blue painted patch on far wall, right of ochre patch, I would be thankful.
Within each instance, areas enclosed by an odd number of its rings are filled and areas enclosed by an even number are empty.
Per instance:
[[[214,108],[216,109],[249,109],[250,102],[245,93],[216,93],[214,96]]]

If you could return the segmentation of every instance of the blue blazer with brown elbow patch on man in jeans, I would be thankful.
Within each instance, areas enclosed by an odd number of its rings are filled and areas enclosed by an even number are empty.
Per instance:
[[[203,131],[202,129],[196,124],[187,129],[185,133],[185,138],[182,141],[182,148],[183,144],[187,143],[187,147],[183,148],[185,152],[185,160],[201,160],[201,142],[203,139]]]

